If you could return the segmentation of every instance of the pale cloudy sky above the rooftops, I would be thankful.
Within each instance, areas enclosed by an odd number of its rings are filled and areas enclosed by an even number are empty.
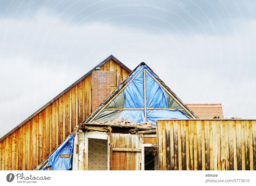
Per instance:
[[[255,17],[255,0],[0,0],[0,136],[110,54],[184,103],[256,118]]]

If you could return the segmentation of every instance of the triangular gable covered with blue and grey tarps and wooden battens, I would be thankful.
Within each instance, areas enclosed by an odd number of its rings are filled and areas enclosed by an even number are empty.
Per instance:
[[[196,116],[145,63],[141,63],[84,123],[115,119],[155,123],[157,119],[167,118]]]

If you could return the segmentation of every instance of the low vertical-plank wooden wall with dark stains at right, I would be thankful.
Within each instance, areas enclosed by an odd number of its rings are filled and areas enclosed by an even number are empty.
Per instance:
[[[255,120],[160,120],[160,170],[256,170]]]

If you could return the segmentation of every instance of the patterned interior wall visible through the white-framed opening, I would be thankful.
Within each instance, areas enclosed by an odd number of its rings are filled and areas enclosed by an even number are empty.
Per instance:
[[[88,170],[108,170],[108,141],[88,139]]]

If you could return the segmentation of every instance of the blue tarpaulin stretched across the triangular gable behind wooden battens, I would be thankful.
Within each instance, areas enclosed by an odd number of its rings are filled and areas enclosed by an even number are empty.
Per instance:
[[[155,78],[156,75],[146,65],[140,65],[129,77],[128,81],[140,71],[147,69],[145,72],[146,79],[146,106],[152,110],[147,110],[147,122],[155,123],[157,119],[187,119],[180,110],[155,110],[155,108],[168,109],[168,100],[165,90],[148,74],[150,73]],[[124,108],[144,108],[144,77],[143,70],[130,82],[124,89]],[[145,121],[144,110],[123,110],[120,119],[141,123]]]

